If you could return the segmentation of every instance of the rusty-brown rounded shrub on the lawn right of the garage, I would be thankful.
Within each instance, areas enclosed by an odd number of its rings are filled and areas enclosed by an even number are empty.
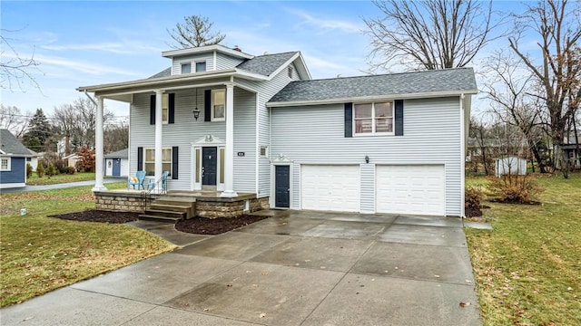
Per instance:
[[[543,187],[537,186],[537,180],[530,176],[506,175],[490,177],[488,186],[501,203],[534,204]]]

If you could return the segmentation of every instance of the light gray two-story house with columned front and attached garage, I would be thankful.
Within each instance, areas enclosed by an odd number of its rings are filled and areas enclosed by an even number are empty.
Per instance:
[[[130,175],[174,191],[244,194],[271,207],[463,216],[469,68],[311,80],[300,52],[211,45],[162,53],[97,98],[94,191],[103,191],[103,101],[130,104]]]

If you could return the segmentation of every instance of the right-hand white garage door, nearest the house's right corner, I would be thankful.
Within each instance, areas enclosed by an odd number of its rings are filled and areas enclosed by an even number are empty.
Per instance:
[[[378,213],[446,215],[443,165],[377,166]]]

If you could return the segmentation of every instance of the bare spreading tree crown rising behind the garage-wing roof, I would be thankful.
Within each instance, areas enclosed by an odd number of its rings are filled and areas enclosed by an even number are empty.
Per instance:
[[[500,37],[490,37],[500,24],[493,21],[491,1],[483,5],[478,0],[374,0],[373,4],[383,16],[364,19],[371,38],[372,70],[391,63],[412,70],[463,67]]]

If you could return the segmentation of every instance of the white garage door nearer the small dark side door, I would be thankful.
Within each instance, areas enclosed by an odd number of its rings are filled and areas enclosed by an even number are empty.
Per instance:
[[[302,209],[359,212],[359,165],[302,165]]]

